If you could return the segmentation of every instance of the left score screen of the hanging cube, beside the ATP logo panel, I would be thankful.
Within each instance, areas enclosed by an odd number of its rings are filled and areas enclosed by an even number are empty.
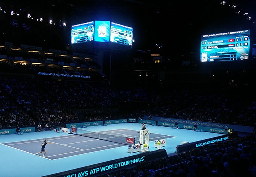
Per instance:
[[[93,41],[94,39],[94,21],[72,25],[71,44]]]

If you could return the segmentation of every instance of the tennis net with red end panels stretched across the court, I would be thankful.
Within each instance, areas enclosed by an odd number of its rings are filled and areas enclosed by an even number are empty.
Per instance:
[[[115,143],[125,144],[125,145],[135,144],[135,138],[130,138],[127,136],[111,135],[108,133],[93,132],[93,131],[88,131],[88,130],[77,128],[77,127],[71,127],[71,134],[86,136],[89,138],[96,138],[99,140],[105,140],[105,141],[110,141],[110,142],[115,142]]]

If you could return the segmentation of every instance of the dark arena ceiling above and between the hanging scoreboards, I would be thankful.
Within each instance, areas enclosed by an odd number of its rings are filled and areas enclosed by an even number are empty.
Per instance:
[[[131,26],[138,50],[151,50],[159,44],[169,51],[193,52],[202,34],[254,28],[256,21],[254,0],[3,0],[0,6],[66,22],[67,34],[71,25],[90,20]]]

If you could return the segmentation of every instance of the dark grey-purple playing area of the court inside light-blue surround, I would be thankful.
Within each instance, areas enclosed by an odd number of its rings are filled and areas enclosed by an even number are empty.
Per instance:
[[[117,138],[119,138],[120,136],[121,137],[128,136],[131,138],[135,138],[135,144],[139,142],[139,138],[138,138],[139,132],[130,130],[130,129],[115,129],[111,131],[100,131],[98,133],[114,135]],[[160,139],[167,139],[167,138],[173,138],[173,137],[174,136],[150,133],[149,141],[157,141]],[[54,143],[55,145],[54,149],[51,149],[51,151],[48,152],[45,157],[51,160],[70,157],[74,155],[81,155],[85,153],[91,153],[95,151],[102,151],[102,150],[112,149],[112,148],[121,147],[121,146],[127,146],[125,144],[110,142],[108,140],[90,138],[86,136],[78,136],[74,134],[70,134],[69,136],[47,138],[46,141],[48,143]],[[42,139],[35,139],[35,140],[26,140],[26,141],[19,141],[19,142],[8,142],[3,144],[27,153],[35,154],[35,149],[38,152],[39,144],[41,144],[42,142],[43,142]],[[48,149],[49,146],[51,145],[50,144],[46,145],[45,149]],[[39,154],[39,156],[42,156],[42,155],[43,153]]]

